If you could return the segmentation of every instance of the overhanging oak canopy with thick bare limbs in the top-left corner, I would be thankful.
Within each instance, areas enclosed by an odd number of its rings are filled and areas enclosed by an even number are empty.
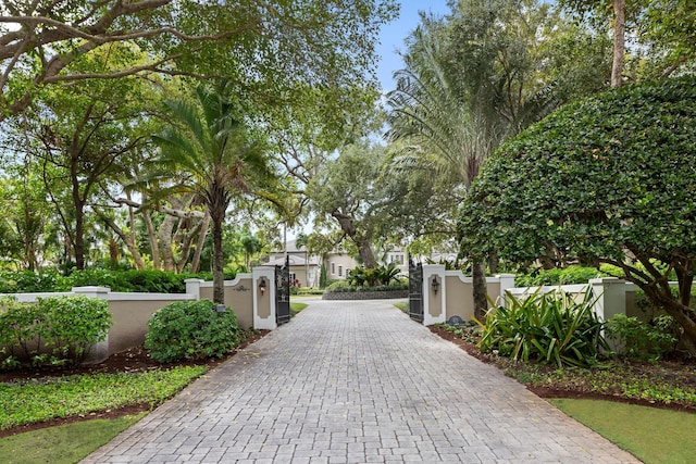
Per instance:
[[[224,75],[257,106],[314,103],[332,120],[336,105],[360,100],[339,90],[370,78],[378,27],[396,10],[391,0],[5,0],[0,121],[49,85],[153,74]],[[75,67],[114,45],[115,68]],[[142,60],[121,61],[128,50]]]

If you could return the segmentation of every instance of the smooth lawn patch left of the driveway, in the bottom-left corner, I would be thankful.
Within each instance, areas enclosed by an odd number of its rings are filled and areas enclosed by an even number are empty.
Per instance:
[[[76,463],[144,416],[78,422],[0,438],[0,456],[7,464]]]

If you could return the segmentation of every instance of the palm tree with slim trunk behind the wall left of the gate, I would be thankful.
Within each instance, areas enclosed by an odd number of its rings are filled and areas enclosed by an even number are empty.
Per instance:
[[[208,210],[213,228],[213,301],[219,304],[224,304],[222,237],[227,208],[243,193],[272,198],[262,189],[276,180],[263,143],[249,137],[235,114],[228,88],[227,80],[212,89],[201,85],[196,88],[196,103],[166,102],[176,125],[153,136],[160,152],[151,161],[157,168],[148,176],[149,181],[170,181],[160,198],[192,192]]]

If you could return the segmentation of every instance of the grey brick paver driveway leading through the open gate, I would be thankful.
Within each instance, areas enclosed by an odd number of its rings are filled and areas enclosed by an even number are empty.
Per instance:
[[[638,461],[391,302],[316,300],[84,462]]]

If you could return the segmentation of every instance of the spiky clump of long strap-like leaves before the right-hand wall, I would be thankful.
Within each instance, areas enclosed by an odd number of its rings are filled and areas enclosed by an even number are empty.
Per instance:
[[[525,299],[507,293],[505,305],[488,312],[478,342],[482,351],[496,351],[513,361],[589,366],[608,350],[604,324],[592,308],[596,299],[588,289],[582,301],[563,291]]]

